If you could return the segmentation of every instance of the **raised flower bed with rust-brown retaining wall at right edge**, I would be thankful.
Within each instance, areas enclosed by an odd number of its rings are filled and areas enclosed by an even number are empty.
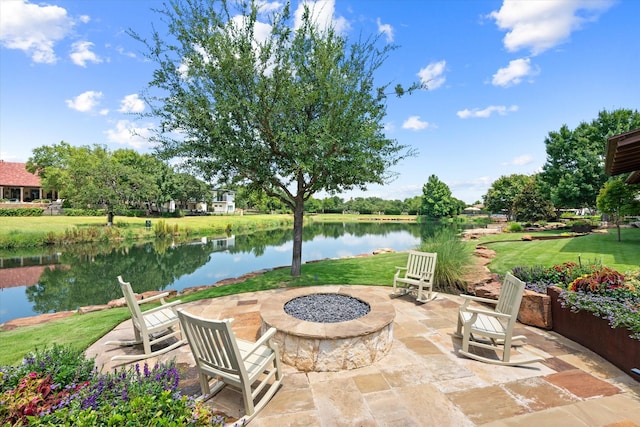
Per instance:
[[[640,368],[640,271],[622,274],[597,263],[517,267],[527,289],[551,298],[553,330],[624,370]]]

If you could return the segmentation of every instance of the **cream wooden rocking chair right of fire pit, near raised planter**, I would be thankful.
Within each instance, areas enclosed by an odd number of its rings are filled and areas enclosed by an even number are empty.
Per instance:
[[[520,302],[524,293],[525,283],[507,273],[498,300],[480,298],[471,295],[461,295],[465,298],[458,312],[458,327],[454,336],[462,338],[462,348],[459,350],[471,359],[496,365],[524,365],[541,362],[544,359],[527,355],[518,350],[519,357],[512,358],[512,347],[525,343],[524,335],[513,336],[513,328],[518,318]],[[471,301],[495,305],[493,310],[470,307]],[[469,351],[469,346],[494,350],[502,353],[502,358],[490,358]]]

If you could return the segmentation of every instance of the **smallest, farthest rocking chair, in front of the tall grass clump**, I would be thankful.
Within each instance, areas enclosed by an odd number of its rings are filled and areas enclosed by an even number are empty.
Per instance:
[[[435,299],[438,293],[432,289],[437,257],[436,253],[409,251],[407,266],[396,267],[392,296],[410,293],[418,302]]]

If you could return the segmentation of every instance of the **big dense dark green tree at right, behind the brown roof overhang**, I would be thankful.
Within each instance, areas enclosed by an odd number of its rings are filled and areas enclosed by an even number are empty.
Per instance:
[[[604,172],[607,138],[640,127],[640,113],[601,111],[573,131],[563,125],[545,138],[547,162],[542,189],[556,208],[593,208],[608,177]]]

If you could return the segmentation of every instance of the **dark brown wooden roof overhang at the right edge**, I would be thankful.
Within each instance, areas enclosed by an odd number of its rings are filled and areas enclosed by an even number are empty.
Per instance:
[[[607,140],[605,171],[612,176],[632,172],[627,182],[640,183],[640,129]]]

